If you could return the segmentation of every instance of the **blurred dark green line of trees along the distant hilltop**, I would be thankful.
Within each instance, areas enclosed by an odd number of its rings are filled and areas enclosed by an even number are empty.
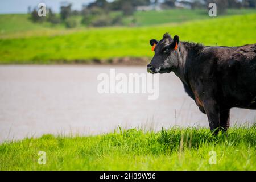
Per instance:
[[[74,28],[79,23],[85,26],[113,26],[122,25],[123,17],[130,16],[131,23],[136,23],[133,14],[137,10],[160,10],[172,8],[187,9],[208,9],[209,3],[217,4],[217,10],[220,14],[225,14],[226,9],[233,8],[255,8],[256,0],[192,0],[177,1],[164,0],[161,3],[158,0],[96,0],[88,5],[82,5],[82,10],[72,10],[72,5],[66,3],[60,6],[60,14],[55,14],[49,8],[46,17],[39,17],[38,11],[34,9],[29,12],[31,20],[34,22],[51,22],[52,24],[64,23],[67,28]],[[81,16],[82,19],[76,18]]]

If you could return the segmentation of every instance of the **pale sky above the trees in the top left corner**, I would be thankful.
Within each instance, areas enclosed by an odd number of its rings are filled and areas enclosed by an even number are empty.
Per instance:
[[[27,13],[28,6],[34,9],[40,2],[45,3],[46,7],[51,7],[55,13],[59,12],[61,2],[72,3],[72,9],[80,10],[83,4],[88,4],[93,1],[94,0],[0,0],[0,14]]]

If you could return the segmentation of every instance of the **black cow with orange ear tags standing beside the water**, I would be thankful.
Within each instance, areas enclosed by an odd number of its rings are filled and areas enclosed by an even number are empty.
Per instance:
[[[150,73],[173,71],[200,111],[207,114],[213,134],[229,128],[230,109],[256,109],[256,44],[238,47],[203,46],[179,41],[166,33],[150,40],[155,55]]]

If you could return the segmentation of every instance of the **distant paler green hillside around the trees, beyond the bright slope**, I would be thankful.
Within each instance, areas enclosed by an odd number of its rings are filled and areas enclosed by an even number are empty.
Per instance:
[[[242,15],[255,13],[255,9],[228,9],[226,14],[218,16]],[[121,15],[121,12],[112,12],[111,16]],[[59,16],[59,15],[58,15]],[[81,23],[81,16],[74,16],[77,22]],[[191,20],[210,19],[208,11],[205,9],[200,10],[187,10],[187,9],[171,9],[163,11],[137,11],[133,16],[125,17],[123,22],[129,26],[131,20],[135,19],[136,26],[148,26],[163,23],[180,23]],[[79,24],[79,27],[84,27]],[[60,23],[53,25],[51,23],[33,23],[28,14],[1,14],[0,15],[0,36],[10,34],[17,34],[26,31],[34,30],[48,30],[52,29],[65,30],[65,24]]]

